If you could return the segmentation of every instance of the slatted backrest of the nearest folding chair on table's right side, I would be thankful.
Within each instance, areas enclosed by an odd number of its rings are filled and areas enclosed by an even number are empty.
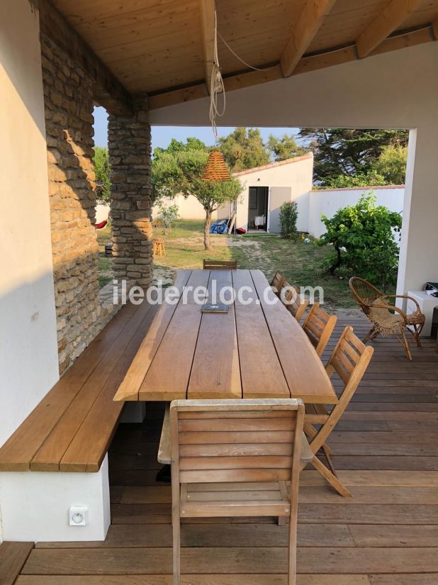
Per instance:
[[[364,345],[354,335],[352,327],[344,329],[325,368],[329,376],[336,372],[344,382],[342,399],[345,399],[345,394],[349,395],[348,399],[354,394],[373,353],[374,348],[370,345]]]

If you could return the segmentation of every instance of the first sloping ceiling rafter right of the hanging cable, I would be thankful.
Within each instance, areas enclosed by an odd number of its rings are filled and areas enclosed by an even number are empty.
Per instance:
[[[280,65],[284,77],[293,73],[308,46],[320,30],[322,21],[332,9],[335,0],[307,0],[300,19],[293,28],[291,38],[288,40]]]

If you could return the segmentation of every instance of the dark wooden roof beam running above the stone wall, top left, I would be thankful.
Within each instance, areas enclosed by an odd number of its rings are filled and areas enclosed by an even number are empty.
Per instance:
[[[93,97],[109,113],[116,116],[130,116],[133,104],[129,92],[103,65],[96,53],[69,25],[62,14],[49,0],[39,0],[40,33],[46,35],[84,72],[93,82]]]

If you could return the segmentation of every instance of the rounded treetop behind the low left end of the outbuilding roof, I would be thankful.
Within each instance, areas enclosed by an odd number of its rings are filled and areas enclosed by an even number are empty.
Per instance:
[[[259,128],[236,128],[225,138],[218,138],[218,149],[232,172],[245,171],[270,162]]]

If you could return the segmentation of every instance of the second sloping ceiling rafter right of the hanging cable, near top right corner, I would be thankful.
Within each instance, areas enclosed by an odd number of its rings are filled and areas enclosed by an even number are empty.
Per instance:
[[[391,0],[386,9],[356,40],[359,58],[368,57],[391,33],[401,26],[423,0]]]

